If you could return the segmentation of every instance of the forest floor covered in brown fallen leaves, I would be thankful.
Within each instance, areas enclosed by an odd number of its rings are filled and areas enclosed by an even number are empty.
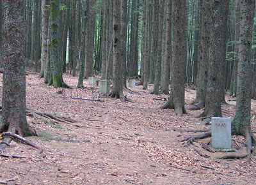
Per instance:
[[[3,74],[0,74],[0,86]],[[11,142],[2,154],[22,158],[0,157],[0,184],[255,184],[256,160],[219,159],[230,152],[209,152],[205,138],[184,147],[183,138],[198,133],[175,129],[206,129],[196,118],[203,110],[188,111],[180,117],[173,110],[161,110],[168,95],[150,94],[142,86],[124,91],[133,102],[111,98],[103,101],[77,100],[67,97],[96,98],[97,86],[77,89],[77,77],[65,74],[64,81],[73,89],[54,89],[38,79],[26,76],[27,108],[65,116],[77,122],[44,121],[28,117],[31,127],[42,137],[28,137],[44,152],[20,142]],[[2,95],[3,88],[0,88]],[[186,105],[196,91],[186,88]],[[0,96],[1,96],[0,95]],[[97,98],[96,98],[97,99]],[[0,98],[1,100],[1,98]],[[226,96],[223,117],[234,117],[236,101]],[[252,130],[256,131],[256,101],[252,100]],[[232,137],[233,145],[243,145],[243,137]],[[211,144],[210,144],[211,145]],[[201,157],[196,151],[207,154]],[[243,147],[232,154],[246,154]]]

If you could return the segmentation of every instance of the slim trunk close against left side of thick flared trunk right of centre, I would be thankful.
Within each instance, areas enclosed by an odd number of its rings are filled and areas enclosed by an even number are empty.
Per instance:
[[[184,22],[184,20],[182,20]],[[167,14],[166,14],[166,38],[165,38],[165,52],[164,52],[164,67],[163,67],[163,86],[161,92],[169,94],[169,79],[170,79],[170,62],[171,62],[171,47],[172,47],[172,1],[167,0]]]

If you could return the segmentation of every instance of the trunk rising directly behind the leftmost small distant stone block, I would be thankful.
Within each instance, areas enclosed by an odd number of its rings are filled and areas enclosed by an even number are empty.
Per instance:
[[[92,77],[93,75],[93,50],[94,50],[94,35],[95,35],[95,15],[94,6],[95,0],[89,0],[88,5],[88,22],[86,26],[86,43],[85,43],[85,74],[84,77]]]

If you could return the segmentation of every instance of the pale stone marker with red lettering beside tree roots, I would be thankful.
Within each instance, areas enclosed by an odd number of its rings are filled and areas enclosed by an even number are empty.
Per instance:
[[[212,117],[212,147],[231,149],[231,118]]]

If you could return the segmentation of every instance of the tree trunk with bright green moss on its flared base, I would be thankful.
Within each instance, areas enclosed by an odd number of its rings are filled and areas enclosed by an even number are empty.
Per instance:
[[[51,39],[50,39],[50,77],[48,85],[69,87],[63,81],[60,61],[60,1],[51,0],[50,4]]]

